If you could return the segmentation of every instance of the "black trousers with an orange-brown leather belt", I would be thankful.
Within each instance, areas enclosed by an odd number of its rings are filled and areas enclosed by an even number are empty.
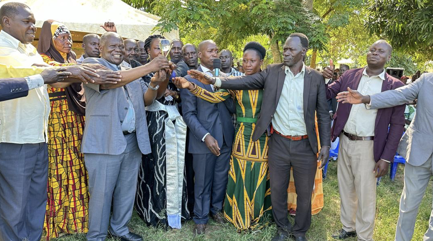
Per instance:
[[[303,236],[311,225],[311,195],[317,169],[317,157],[308,139],[291,141],[278,134],[269,140],[269,174],[271,182],[272,214],[279,228]],[[296,188],[296,216],[292,226],[288,219],[287,189],[290,169]]]

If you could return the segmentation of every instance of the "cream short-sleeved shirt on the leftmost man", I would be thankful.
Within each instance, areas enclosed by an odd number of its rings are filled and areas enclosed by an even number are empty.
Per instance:
[[[45,64],[31,44],[24,45],[5,31],[0,32],[0,64],[31,67]],[[36,87],[26,97],[0,102],[0,142],[17,144],[47,142],[50,102],[46,84]],[[30,86],[29,86],[30,87]],[[34,87],[34,86],[32,86]]]

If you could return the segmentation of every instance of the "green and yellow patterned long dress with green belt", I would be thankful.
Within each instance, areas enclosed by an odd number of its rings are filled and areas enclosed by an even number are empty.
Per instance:
[[[268,172],[268,137],[252,141],[251,135],[262,106],[263,90],[218,90],[200,87],[191,91],[212,103],[236,99],[237,126],[230,157],[224,216],[238,231],[262,228],[272,218]]]

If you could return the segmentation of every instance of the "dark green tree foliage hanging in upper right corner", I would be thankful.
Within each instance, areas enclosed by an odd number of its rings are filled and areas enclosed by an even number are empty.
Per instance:
[[[433,60],[433,1],[368,0],[365,27],[418,62]]]

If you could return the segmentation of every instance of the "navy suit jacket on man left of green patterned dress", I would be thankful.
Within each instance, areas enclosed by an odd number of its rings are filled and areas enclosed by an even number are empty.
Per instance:
[[[197,70],[202,71],[201,67],[198,67]],[[209,84],[202,84],[190,75],[185,76],[185,78],[203,89],[213,92]],[[206,133],[210,133],[218,141],[220,148],[223,141],[229,148],[232,147],[235,128],[227,106],[233,106],[233,98],[229,98],[223,103],[210,103],[194,96],[191,91],[182,89],[181,99],[183,118],[190,133],[189,153],[211,153],[206,144],[201,141]],[[226,102],[228,103],[227,106],[225,105]]]

